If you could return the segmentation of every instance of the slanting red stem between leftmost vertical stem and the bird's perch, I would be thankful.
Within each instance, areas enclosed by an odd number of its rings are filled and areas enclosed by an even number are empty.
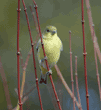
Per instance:
[[[28,20],[28,15],[27,15],[27,11],[26,11],[26,6],[25,6],[25,3],[24,3],[24,0],[22,0],[22,3],[23,3],[23,6],[24,6],[24,11],[25,11],[25,15],[26,15],[28,30],[29,30],[29,34],[30,34],[32,53],[33,53],[33,63],[34,63],[34,70],[35,70],[35,78],[36,78],[36,86],[37,86],[37,90],[38,90],[38,96],[39,96],[39,101],[40,101],[40,105],[41,105],[41,110],[43,110],[42,101],[41,101],[41,95],[40,95],[40,90],[39,90],[39,85],[38,85],[37,71],[36,71],[36,62],[35,62],[35,56],[34,56],[34,44],[33,44],[32,36],[31,36],[31,30],[30,30],[30,25],[29,25],[29,20]]]

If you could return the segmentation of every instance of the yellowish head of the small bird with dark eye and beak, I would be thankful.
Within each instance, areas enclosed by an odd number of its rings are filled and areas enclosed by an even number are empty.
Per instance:
[[[43,38],[52,38],[57,34],[57,28],[55,26],[47,26],[43,33]]]

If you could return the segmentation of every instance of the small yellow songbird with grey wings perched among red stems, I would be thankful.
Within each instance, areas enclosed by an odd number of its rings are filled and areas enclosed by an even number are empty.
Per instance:
[[[60,58],[60,53],[63,50],[62,41],[57,35],[57,28],[55,26],[47,26],[42,34],[42,40],[44,44],[49,69],[51,70],[51,68],[58,62]],[[41,70],[41,78],[39,83],[47,84],[48,70],[45,63],[43,49],[41,46],[41,39],[39,39],[36,49],[39,66]]]

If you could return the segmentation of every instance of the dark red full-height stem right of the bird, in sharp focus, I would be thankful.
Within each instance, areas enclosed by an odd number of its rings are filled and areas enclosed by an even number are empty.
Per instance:
[[[87,67],[86,67],[86,46],[85,46],[85,33],[84,33],[84,1],[81,0],[81,10],[82,10],[82,33],[83,33],[83,56],[84,56],[84,72],[85,72],[85,87],[86,87],[86,102],[87,110],[89,110],[89,94],[87,85]]]

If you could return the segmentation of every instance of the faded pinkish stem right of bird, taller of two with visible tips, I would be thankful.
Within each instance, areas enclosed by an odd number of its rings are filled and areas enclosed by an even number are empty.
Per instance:
[[[71,83],[72,83],[72,92],[73,92],[73,95],[74,95],[74,80],[73,80],[72,52],[71,52],[71,31],[69,31],[69,48],[70,48]],[[73,110],[75,110],[75,101],[74,101],[74,97],[73,97]]]

